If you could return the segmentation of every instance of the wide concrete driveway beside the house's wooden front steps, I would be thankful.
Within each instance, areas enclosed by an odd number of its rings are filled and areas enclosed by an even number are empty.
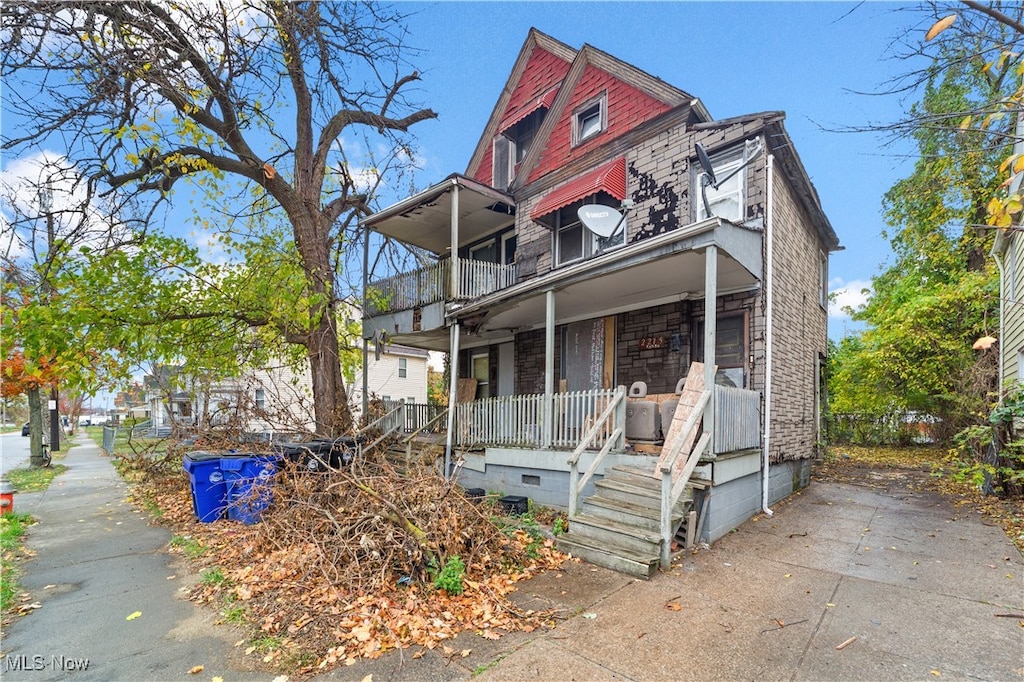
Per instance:
[[[407,651],[328,678],[1021,679],[1021,554],[982,516],[920,489],[924,476],[815,482],[649,582],[570,562],[517,596],[556,609],[553,630],[464,634],[447,655]]]

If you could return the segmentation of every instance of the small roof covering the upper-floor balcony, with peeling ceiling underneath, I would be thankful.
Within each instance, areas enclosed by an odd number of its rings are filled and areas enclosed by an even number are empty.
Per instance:
[[[458,173],[364,218],[362,225],[442,255],[452,248],[452,196],[459,187],[459,244],[470,244],[512,222],[515,200]]]

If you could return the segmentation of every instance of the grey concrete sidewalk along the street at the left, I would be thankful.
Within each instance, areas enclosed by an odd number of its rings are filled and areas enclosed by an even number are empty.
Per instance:
[[[244,635],[185,599],[187,567],[166,552],[170,534],[125,501],[98,446],[84,434],[74,443],[48,491],[15,495],[15,509],[39,520],[20,586],[41,606],[4,629],[0,678],[168,680],[204,666],[200,679],[272,679],[231,666]]]

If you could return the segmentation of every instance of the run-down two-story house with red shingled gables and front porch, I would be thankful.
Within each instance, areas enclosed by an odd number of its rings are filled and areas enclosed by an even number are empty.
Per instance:
[[[807,484],[839,241],[781,112],[537,30],[501,92],[464,173],[364,219],[430,255],[366,275],[364,335],[457,358],[445,472],[650,574]]]

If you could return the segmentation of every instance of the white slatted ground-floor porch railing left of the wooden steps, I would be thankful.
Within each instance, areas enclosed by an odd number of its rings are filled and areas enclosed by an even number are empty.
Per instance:
[[[504,395],[464,402],[456,406],[455,442],[460,447],[477,444],[575,447],[587,429],[595,424],[605,408],[615,399],[615,395],[616,389],[596,388],[551,396],[554,421],[550,443],[544,442],[543,393]],[[616,428],[625,426],[625,414],[621,419],[603,422],[594,435],[594,446],[601,447],[612,438]]]

